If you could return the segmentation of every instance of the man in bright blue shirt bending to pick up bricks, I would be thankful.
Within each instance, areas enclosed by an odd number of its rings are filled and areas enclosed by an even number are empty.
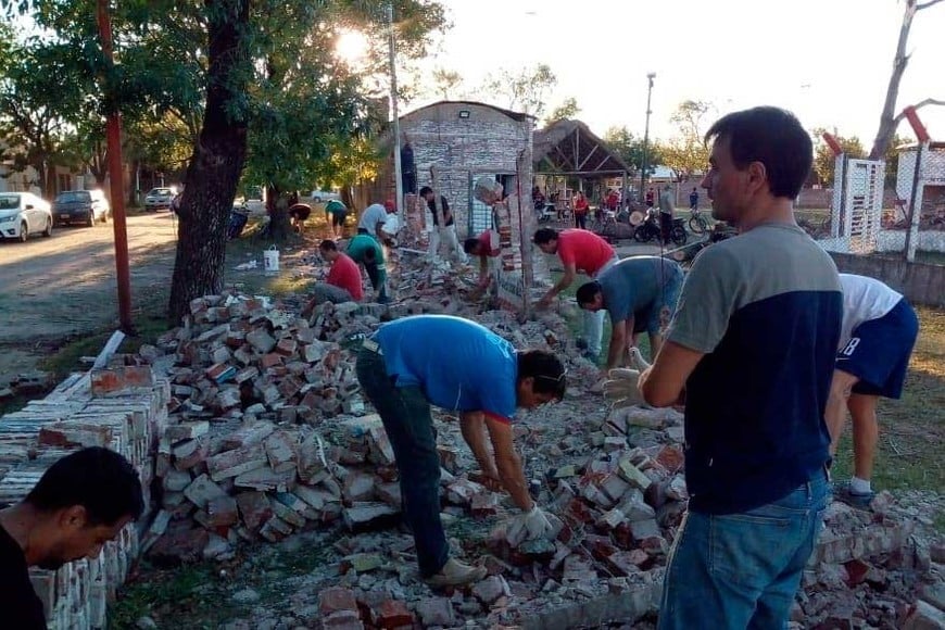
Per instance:
[[[393,446],[404,516],[427,583],[457,585],[486,577],[484,568],[450,557],[440,522],[440,456],[431,404],[459,412],[463,438],[487,486],[505,488],[522,511],[517,525],[534,538],[551,530],[528,493],[512,441],[512,418],[516,407],[533,408],[564,396],[565,370],[554,354],[516,352],[475,322],[417,315],[385,324],[366,339],[356,370]]]

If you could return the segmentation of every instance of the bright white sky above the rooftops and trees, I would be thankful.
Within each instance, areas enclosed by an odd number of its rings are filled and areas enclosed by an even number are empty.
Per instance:
[[[903,0],[441,2],[452,28],[424,71],[456,71],[475,87],[497,70],[546,63],[558,79],[546,112],[575,97],[578,117],[598,135],[623,125],[642,135],[646,74],[654,72],[651,137],[673,136],[669,117],[691,99],[710,101],[711,119],[753,105],[783,106],[808,129],[835,127],[866,148],[879,125],[904,11]],[[917,13],[907,50],[912,56],[897,111],[925,98],[945,100],[945,2]],[[945,106],[919,113],[932,139],[945,140]],[[914,138],[905,122],[898,133]]]

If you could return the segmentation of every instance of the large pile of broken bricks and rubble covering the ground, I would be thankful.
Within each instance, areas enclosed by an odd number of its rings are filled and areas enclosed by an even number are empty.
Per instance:
[[[194,301],[184,327],[142,350],[172,383],[156,459],[162,509],[146,538],[152,557],[223,560],[237,555],[242,541],[333,528],[349,537],[346,553],[325,568],[320,591],[320,614],[332,627],[541,627],[571,616],[579,619],[574,625],[588,625],[589,618],[655,614],[686,505],[681,415],[608,412],[600,395],[582,392],[596,370],[563,341],[568,333],[556,315],[525,325],[504,312],[474,316],[518,346],[560,351],[577,377],[569,400],[542,412],[539,421],[526,414],[516,427],[526,455],[541,458],[529,459],[528,475],[539,503],[556,516],[555,530],[528,542],[505,530],[514,511],[478,482],[465,449],[455,446],[456,424],[441,414],[444,520],[482,532],[474,537],[480,542],[454,540],[454,546],[470,559],[484,557],[490,577],[440,597],[406,570],[411,540],[389,527],[400,513],[393,453],[360,396],[350,349],[381,318],[471,315],[441,289],[425,278],[408,303],[389,310],[326,304],[311,320],[293,315],[291,305],[238,293]],[[794,609],[796,627],[837,619],[846,627],[883,627],[910,615],[925,618],[930,606],[937,610],[941,567],[915,559],[921,552],[910,520],[887,494],[873,512],[833,504],[827,522]],[[362,532],[377,529],[389,540],[373,546],[367,541],[376,539]],[[918,600],[921,580],[931,585]]]

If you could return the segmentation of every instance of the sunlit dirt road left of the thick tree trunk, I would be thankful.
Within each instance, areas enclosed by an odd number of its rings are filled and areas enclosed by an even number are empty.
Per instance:
[[[136,311],[163,306],[176,222],[167,212],[130,216],[128,253]],[[58,228],[51,238],[0,242],[0,375],[35,366],[41,344],[117,325],[114,229]]]

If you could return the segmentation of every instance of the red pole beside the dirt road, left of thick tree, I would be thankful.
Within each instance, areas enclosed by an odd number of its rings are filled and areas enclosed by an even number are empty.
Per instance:
[[[99,36],[102,38],[102,53],[109,67],[114,65],[112,50],[112,20],[109,15],[109,0],[98,0],[97,5]],[[112,86],[105,83],[105,91]],[[116,110],[108,112],[105,140],[109,151],[109,180],[112,192],[112,225],[115,229],[115,276],[118,284],[118,323],[122,331],[134,332],[131,324],[131,273],[128,265],[128,229],[125,224],[125,180],[122,173],[122,114]]]

